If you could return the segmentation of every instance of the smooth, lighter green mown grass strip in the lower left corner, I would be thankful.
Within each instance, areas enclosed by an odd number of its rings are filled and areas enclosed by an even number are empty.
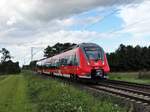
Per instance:
[[[23,75],[8,75],[0,81],[0,112],[27,112],[28,104]]]

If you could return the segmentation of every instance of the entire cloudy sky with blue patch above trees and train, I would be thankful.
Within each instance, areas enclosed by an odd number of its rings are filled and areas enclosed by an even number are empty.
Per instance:
[[[20,65],[57,42],[150,45],[150,0],[0,0],[0,49]]]

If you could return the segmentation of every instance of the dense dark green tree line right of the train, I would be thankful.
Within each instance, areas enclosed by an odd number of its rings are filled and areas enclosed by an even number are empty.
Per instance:
[[[150,46],[121,44],[115,52],[107,53],[107,59],[111,71],[150,70]]]

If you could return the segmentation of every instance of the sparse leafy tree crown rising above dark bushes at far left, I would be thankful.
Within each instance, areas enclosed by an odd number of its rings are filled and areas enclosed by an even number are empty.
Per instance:
[[[2,48],[2,50],[0,50],[0,53],[2,53],[1,63],[11,59],[10,52],[7,49]]]

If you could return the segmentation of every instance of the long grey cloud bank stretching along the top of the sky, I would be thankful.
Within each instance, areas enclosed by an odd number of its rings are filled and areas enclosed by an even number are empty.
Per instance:
[[[3,21],[49,21],[66,18],[70,15],[88,11],[96,7],[106,7],[137,2],[140,0],[1,0],[0,16]]]

